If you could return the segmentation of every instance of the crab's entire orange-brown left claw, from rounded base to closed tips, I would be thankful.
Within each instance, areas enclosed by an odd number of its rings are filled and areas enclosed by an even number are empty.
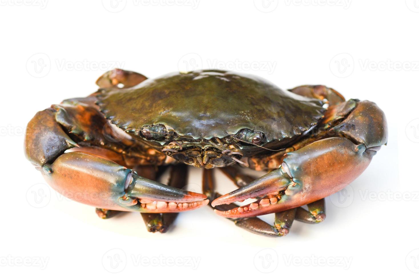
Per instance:
[[[207,205],[207,196],[143,178],[115,162],[84,152],[43,166],[47,182],[67,198],[119,211],[177,213]]]

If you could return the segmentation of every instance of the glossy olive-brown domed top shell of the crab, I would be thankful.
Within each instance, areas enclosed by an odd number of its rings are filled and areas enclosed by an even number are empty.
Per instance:
[[[323,102],[282,90],[248,74],[204,70],[105,89],[98,104],[122,129],[163,124],[180,137],[223,138],[241,129],[268,142],[299,135],[323,117]]]

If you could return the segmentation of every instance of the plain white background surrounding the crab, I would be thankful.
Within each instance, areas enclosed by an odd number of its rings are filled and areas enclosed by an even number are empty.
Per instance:
[[[0,4],[3,278],[417,278],[419,1]],[[295,221],[285,238],[243,231],[209,207],[182,213],[165,234],[147,232],[138,213],[101,220],[49,190],[24,158],[23,130],[37,111],[95,91],[114,67],[148,77],[227,67],[285,89],[325,84],[375,101],[388,118],[388,146],[326,199],[324,223]],[[223,193],[233,189],[216,175]],[[200,187],[200,170],[189,183]]]

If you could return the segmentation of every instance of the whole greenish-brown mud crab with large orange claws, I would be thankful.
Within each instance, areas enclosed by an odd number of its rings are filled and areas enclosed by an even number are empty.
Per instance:
[[[101,218],[140,212],[152,232],[207,204],[266,236],[287,235],[294,220],[320,223],[324,198],[357,178],[387,143],[375,103],[345,101],[326,86],[282,90],[220,70],[147,79],[121,69],[96,84],[95,93],[31,119],[26,157],[62,195],[96,207]],[[188,165],[203,169],[203,194],[182,189]],[[158,182],[166,167],[168,185]],[[214,167],[238,189],[219,194]],[[266,174],[253,178],[243,168]],[[248,198],[256,201],[234,204]],[[269,213],[273,225],[257,217]]]

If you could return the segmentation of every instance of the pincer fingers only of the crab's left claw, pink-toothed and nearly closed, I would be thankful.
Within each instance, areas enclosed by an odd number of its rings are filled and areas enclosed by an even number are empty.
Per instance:
[[[141,212],[174,213],[188,211],[207,205],[209,200],[204,194],[194,193],[171,187],[154,180],[142,178],[135,172],[128,174],[125,185],[126,195],[122,204],[133,203]]]

